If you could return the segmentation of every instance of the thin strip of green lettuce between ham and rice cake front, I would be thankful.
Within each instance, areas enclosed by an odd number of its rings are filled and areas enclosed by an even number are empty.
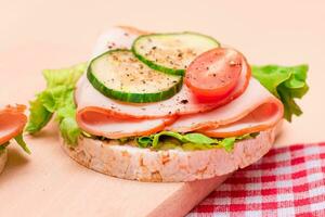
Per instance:
[[[207,150],[223,148],[231,152],[236,141],[256,138],[259,133],[248,133],[240,137],[210,138],[198,132],[179,133],[173,131],[161,131],[147,137],[136,138],[140,148],[152,148],[154,150],[168,150],[180,148],[185,151]]]

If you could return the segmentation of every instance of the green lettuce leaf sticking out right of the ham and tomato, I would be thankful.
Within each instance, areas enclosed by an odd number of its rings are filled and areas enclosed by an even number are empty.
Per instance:
[[[299,116],[302,114],[295,99],[301,99],[309,90],[307,85],[308,65],[252,66],[251,71],[252,76],[283,102],[284,117],[288,122],[291,122],[292,115]]]

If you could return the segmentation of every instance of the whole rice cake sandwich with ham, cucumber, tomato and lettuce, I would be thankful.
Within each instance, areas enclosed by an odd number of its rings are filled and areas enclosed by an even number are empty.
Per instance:
[[[113,27],[90,59],[43,71],[26,130],[55,115],[62,148],[79,164],[139,181],[229,175],[272,148],[302,112],[308,65],[251,65],[198,33]]]

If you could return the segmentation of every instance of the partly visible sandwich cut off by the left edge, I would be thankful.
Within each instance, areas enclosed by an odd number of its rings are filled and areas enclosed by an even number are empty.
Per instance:
[[[6,163],[6,148],[10,140],[14,139],[26,153],[30,154],[22,135],[27,123],[27,116],[24,115],[25,108],[25,105],[6,105],[0,108],[0,174]]]

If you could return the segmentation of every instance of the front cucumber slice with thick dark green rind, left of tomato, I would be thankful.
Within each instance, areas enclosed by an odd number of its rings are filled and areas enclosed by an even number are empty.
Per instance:
[[[87,77],[104,95],[125,102],[158,102],[180,91],[181,76],[147,67],[129,50],[112,50],[91,61]]]

